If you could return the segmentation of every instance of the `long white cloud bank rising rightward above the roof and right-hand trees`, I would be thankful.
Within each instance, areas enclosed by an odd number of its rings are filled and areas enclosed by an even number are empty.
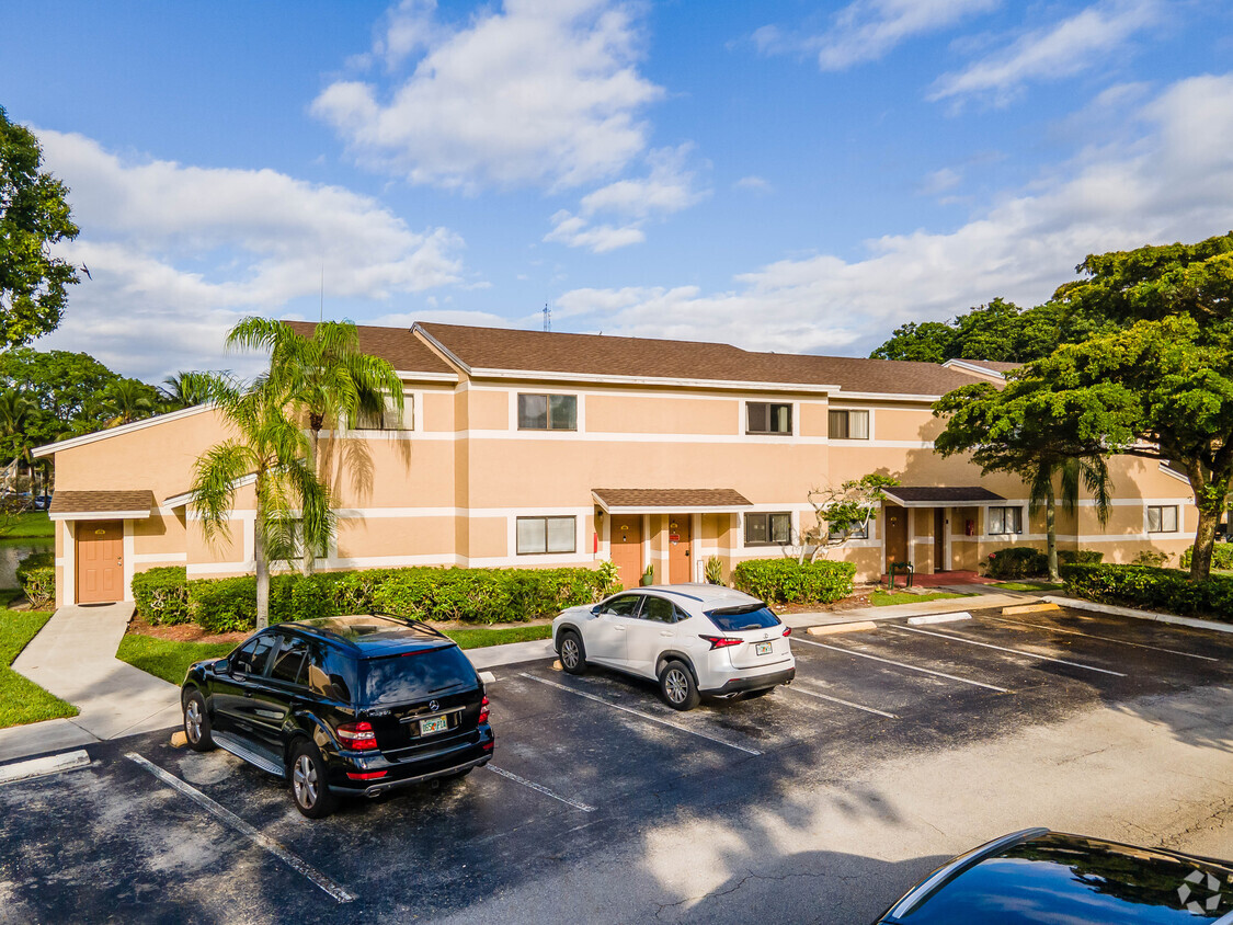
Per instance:
[[[887,236],[863,260],[780,260],[723,292],[582,289],[559,306],[607,333],[867,353],[905,321],[943,319],[994,296],[1036,305],[1089,253],[1233,224],[1233,75],[1179,81],[1137,117],[1129,147],[1086,150],[949,233]]]

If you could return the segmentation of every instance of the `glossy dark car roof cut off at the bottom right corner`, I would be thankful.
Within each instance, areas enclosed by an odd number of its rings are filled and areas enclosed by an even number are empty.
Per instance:
[[[1219,861],[1047,832],[961,867],[901,918],[891,910],[884,921],[1211,925],[1233,913],[1231,876],[1233,866]]]

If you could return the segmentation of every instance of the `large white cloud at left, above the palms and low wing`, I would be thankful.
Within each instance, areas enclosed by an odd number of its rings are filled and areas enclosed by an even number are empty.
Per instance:
[[[236,365],[221,355],[242,314],[296,298],[332,307],[459,284],[462,240],[414,232],[376,200],[275,170],[127,160],[90,138],[38,132],[83,228],[63,253],[90,268],[46,345],[128,375]]]

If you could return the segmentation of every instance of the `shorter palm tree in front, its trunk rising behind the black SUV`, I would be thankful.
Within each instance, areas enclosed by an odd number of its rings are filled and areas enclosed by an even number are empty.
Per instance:
[[[289,564],[302,549],[324,545],[334,513],[327,486],[307,461],[308,438],[285,385],[261,376],[247,387],[218,381],[211,397],[236,435],[202,455],[194,467],[194,506],[206,541],[217,544],[236,495],[254,476],[256,625],[270,622],[270,561]]]

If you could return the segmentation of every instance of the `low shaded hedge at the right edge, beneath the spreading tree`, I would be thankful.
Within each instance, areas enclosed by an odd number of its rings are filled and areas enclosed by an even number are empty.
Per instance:
[[[1178,569],[1067,565],[1062,580],[1067,593],[1089,601],[1233,622],[1233,577],[1227,575],[1195,583]]]

